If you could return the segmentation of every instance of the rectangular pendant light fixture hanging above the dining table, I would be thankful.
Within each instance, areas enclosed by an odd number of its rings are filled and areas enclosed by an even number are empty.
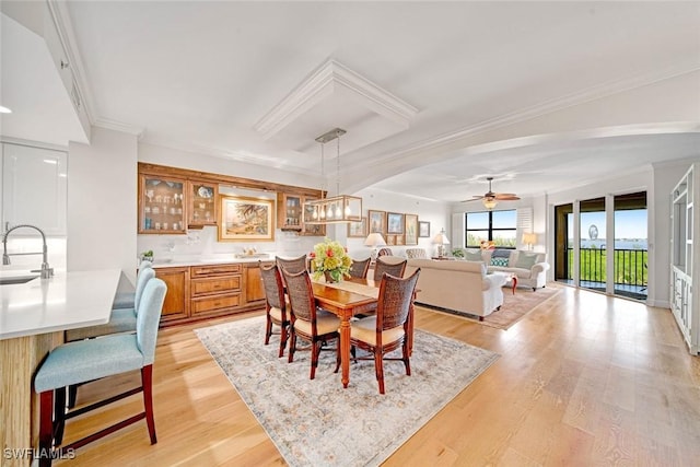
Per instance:
[[[340,195],[340,137],[345,133],[346,130],[334,128],[316,138],[316,142],[320,144],[320,176],[324,184],[326,183],[324,147],[327,142],[336,140],[336,196],[324,198],[325,189],[322,189],[320,199],[305,202],[304,223],[306,224],[362,221],[362,198]]]

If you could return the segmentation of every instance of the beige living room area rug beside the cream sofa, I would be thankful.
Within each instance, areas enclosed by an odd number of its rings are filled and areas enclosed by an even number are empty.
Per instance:
[[[515,294],[513,294],[513,290],[510,287],[504,287],[503,304],[501,305],[501,310],[486,316],[483,320],[479,320],[479,317],[476,315],[458,312],[455,310],[446,310],[424,305],[417,306],[428,311],[438,311],[463,316],[465,318],[476,320],[485,326],[490,326],[499,329],[508,329],[523,319],[537,306],[555,296],[557,293],[559,293],[559,291],[560,289],[556,285],[547,285],[544,289],[537,289],[537,291],[535,292],[533,292],[532,289],[515,289]]]

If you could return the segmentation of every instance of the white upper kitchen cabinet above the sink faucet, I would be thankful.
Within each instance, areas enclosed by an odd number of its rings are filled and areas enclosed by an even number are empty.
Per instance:
[[[32,224],[66,235],[68,154],[2,143],[2,226]]]

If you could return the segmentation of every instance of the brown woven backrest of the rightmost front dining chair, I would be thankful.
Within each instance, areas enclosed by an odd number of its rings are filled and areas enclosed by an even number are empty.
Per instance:
[[[376,331],[378,334],[406,324],[419,276],[420,268],[406,279],[392,275],[382,277],[376,305]]]

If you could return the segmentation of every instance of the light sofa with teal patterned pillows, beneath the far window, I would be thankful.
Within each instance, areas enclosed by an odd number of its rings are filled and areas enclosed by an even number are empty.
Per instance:
[[[546,253],[528,252],[525,249],[465,249],[467,261],[479,261],[487,266],[489,272],[511,272],[517,277],[518,287],[529,287],[533,291],[547,283]]]

